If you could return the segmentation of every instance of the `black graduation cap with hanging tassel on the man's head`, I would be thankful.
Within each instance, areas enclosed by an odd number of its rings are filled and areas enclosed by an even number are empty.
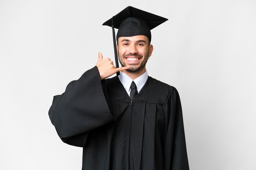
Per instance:
[[[142,11],[134,7],[126,7],[123,11],[104,22],[102,25],[111,26],[113,34],[113,44],[115,52],[116,68],[119,68],[117,57],[117,46],[115,38],[115,28],[119,29],[117,32],[117,39],[119,37],[132,37],[135,35],[145,35],[151,41],[150,30],[159,26],[168,19],[160,17],[153,13]],[[117,72],[119,75],[119,72]]]

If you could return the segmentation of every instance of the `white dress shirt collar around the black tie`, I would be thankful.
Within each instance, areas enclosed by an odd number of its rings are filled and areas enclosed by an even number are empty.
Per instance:
[[[132,78],[130,78],[127,74],[120,72],[120,75],[118,76],[118,78],[121,81],[124,88],[126,89],[126,92],[128,93],[128,95],[130,96],[130,91],[131,91],[130,86],[132,84],[132,81],[134,81],[134,83],[136,84],[137,91],[139,93],[142,87],[145,85],[146,81],[148,80],[148,72],[146,70],[144,74],[135,78],[134,80],[132,80]]]

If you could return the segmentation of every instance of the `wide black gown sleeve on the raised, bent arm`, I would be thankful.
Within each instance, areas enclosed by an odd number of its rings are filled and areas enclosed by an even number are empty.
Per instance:
[[[49,118],[63,142],[83,147],[91,130],[113,121],[103,83],[95,66],[54,96]]]

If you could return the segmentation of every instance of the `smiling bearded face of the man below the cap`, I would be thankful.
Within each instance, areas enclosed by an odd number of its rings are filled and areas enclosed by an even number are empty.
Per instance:
[[[128,72],[144,72],[148,57],[151,56],[153,46],[148,37],[136,35],[133,37],[119,37],[117,39],[119,62],[123,67],[129,66]]]

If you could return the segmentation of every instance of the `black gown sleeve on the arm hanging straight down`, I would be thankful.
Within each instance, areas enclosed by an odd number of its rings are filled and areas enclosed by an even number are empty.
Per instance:
[[[177,89],[171,89],[165,104],[167,131],[164,143],[165,170],[189,170],[182,107]]]

